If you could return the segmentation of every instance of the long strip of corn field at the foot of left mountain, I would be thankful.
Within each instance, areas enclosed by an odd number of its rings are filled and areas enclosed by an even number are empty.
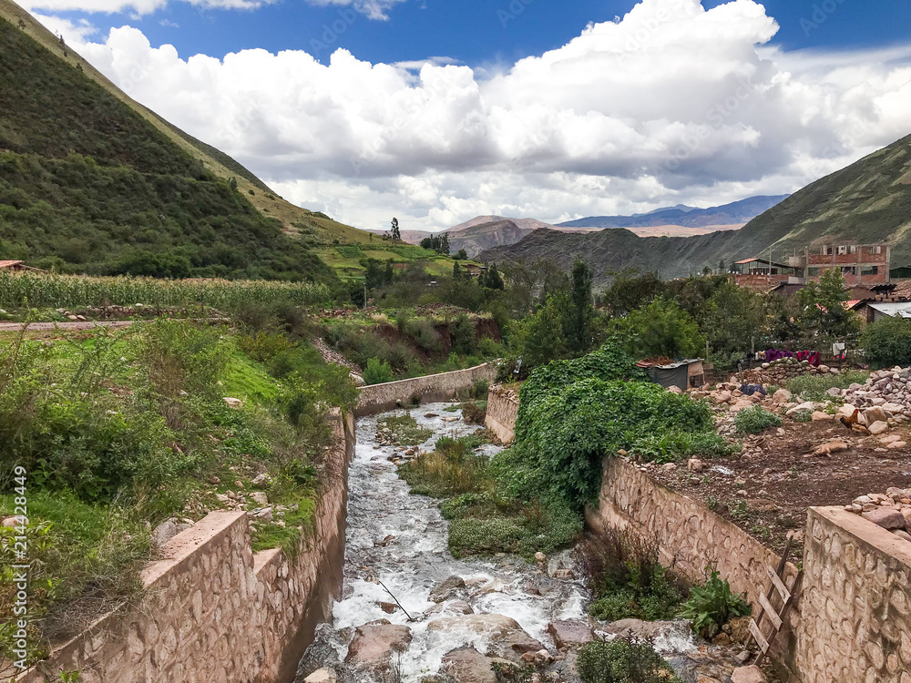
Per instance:
[[[156,280],[0,272],[0,308],[78,306],[188,306],[231,311],[253,302],[330,303],[322,284],[270,280]]]

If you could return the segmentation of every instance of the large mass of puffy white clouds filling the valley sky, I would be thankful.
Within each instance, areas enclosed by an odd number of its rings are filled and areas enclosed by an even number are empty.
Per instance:
[[[303,51],[182,58],[130,27],[67,41],[286,198],[360,227],[396,215],[439,229],[779,194],[911,132],[911,46],[784,52],[768,46],[776,30],[752,0],[642,0],[483,73],[342,49],[328,65]]]

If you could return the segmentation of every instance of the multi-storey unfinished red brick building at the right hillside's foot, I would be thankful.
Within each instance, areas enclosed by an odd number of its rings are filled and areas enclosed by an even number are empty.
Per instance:
[[[789,265],[803,271],[808,280],[816,280],[826,270],[838,269],[848,287],[855,284],[885,284],[890,280],[888,244],[821,243],[804,249],[803,256],[788,259]]]

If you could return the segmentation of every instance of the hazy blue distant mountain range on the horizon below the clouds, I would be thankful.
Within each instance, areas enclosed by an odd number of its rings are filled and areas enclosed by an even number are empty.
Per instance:
[[[788,195],[749,197],[708,209],[678,204],[675,207],[655,209],[649,213],[636,213],[632,216],[590,216],[585,219],[568,220],[558,223],[557,227],[631,229],[679,225],[684,228],[704,228],[714,225],[743,224],[756,218],[763,211],[772,209],[773,206],[787,198]]]

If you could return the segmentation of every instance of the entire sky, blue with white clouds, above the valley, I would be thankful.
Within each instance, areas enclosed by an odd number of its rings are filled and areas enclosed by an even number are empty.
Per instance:
[[[911,134],[911,0],[18,0],[363,229],[793,192]]]

